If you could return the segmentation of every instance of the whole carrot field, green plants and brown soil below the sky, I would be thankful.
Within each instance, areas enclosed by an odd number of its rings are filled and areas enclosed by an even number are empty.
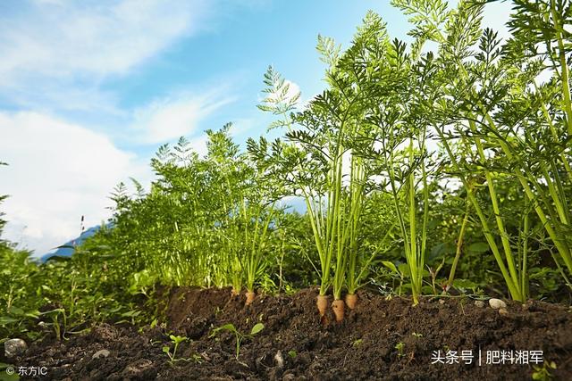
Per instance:
[[[0,379],[572,379],[572,4],[391,4],[407,42],[269,66],[265,134],[158,146],[70,257],[0,241]]]

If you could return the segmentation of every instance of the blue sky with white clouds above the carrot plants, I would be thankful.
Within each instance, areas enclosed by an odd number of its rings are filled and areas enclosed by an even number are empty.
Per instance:
[[[147,185],[159,145],[232,122],[243,144],[273,65],[309,99],[324,88],[318,34],[348,46],[367,10],[407,39],[389,0],[3,0],[0,205],[4,239],[43,254],[109,218],[120,181]],[[487,5],[503,29],[509,4]],[[504,32],[506,35],[506,31]]]

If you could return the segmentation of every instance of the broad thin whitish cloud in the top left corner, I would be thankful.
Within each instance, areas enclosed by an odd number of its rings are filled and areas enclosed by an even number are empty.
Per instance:
[[[123,73],[196,31],[207,13],[206,4],[204,0],[29,4],[29,12],[0,17],[0,80],[18,80],[29,73],[53,77]]]

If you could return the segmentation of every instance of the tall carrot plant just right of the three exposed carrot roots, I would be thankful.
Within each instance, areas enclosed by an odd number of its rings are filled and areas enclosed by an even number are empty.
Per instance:
[[[363,91],[365,128],[359,138],[368,142],[358,149],[382,178],[377,186],[392,195],[416,303],[423,285],[429,204],[430,122],[422,104],[432,96],[425,82],[432,75],[433,56],[408,53],[405,44],[390,41],[383,21],[373,12],[367,14],[349,54],[353,86]]]

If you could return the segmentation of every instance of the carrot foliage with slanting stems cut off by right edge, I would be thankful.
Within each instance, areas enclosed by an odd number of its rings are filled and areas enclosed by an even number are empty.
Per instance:
[[[484,132],[492,136],[487,143],[514,163],[512,173],[572,274],[572,199],[567,192],[572,186],[572,48],[567,31],[572,8],[554,0],[514,4],[509,21],[514,38],[500,63],[507,71],[507,96],[496,104],[479,104],[479,113]],[[541,73],[551,78],[539,83]],[[509,104],[516,104],[516,110]]]

